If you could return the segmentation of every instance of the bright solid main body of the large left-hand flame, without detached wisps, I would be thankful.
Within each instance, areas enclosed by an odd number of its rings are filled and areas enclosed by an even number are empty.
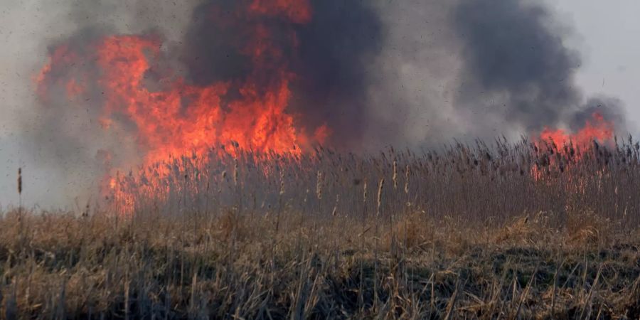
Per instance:
[[[138,36],[112,36],[97,52],[97,63],[105,71],[102,86],[110,92],[101,122],[126,114],[138,128],[139,144],[148,150],[145,164],[169,154],[203,153],[231,141],[243,149],[276,153],[299,152],[309,141],[286,112],[291,78],[284,71],[269,90],[258,90],[252,80],[243,83],[240,100],[229,102],[225,111],[228,82],[196,87],[178,78],[168,80],[164,90],[149,91],[143,85],[150,68],[145,52],[158,55],[159,45]]]

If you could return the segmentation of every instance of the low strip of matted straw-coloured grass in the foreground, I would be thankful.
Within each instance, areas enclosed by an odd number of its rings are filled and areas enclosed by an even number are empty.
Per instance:
[[[471,228],[406,213],[377,238],[374,220],[300,225],[289,212],[279,220],[227,213],[116,225],[100,214],[6,213],[1,311],[38,319],[640,315],[640,238],[595,215],[571,214],[564,228],[543,214]]]

